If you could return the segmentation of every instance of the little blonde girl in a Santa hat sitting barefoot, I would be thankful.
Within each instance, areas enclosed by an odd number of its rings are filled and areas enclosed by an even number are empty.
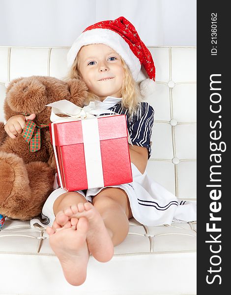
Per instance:
[[[134,26],[119,17],[88,27],[72,45],[67,61],[69,77],[86,83],[100,109],[127,116],[133,144],[129,145],[133,182],[75,192],[58,188],[44,204],[50,245],[66,280],[78,286],[86,280],[90,254],[100,262],[112,259],[114,246],[128,234],[129,218],[145,225],[171,224],[180,206],[175,196],[145,174],[154,110],[141,102],[136,82],[141,66],[154,81],[155,66]],[[24,121],[22,116],[10,118],[7,133],[12,138],[21,133]],[[194,217],[193,211],[189,219]]]

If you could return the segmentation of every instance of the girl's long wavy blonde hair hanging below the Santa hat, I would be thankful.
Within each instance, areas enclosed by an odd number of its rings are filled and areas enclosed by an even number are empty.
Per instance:
[[[83,48],[83,47],[82,47]],[[66,79],[77,78],[83,80],[83,76],[80,72],[80,59],[79,59],[79,50],[72,66],[67,74]],[[120,57],[121,58],[121,57]],[[139,102],[141,102],[141,93],[140,93],[140,85],[136,83],[134,78],[132,77],[131,71],[129,70],[125,61],[121,58],[122,67],[124,70],[124,79],[122,88],[120,91],[120,96],[122,97],[121,105],[124,109],[128,110],[128,114],[134,115],[137,113]],[[99,97],[88,90],[88,97],[86,103],[90,101],[99,100]]]

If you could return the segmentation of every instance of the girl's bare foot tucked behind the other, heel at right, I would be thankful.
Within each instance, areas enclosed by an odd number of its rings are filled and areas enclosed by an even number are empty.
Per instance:
[[[104,221],[97,209],[90,203],[79,203],[72,205],[63,211],[64,215],[81,218],[87,217],[89,229],[87,231],[87,246],[92,256],[100,261],[107,262],[112,259],[114,254],[114,245],[112,235],[105,227]],[[63,218],[60,214],[59,217]]]

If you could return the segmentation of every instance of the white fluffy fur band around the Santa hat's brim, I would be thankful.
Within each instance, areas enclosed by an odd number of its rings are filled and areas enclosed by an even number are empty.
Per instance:
[[[111,29],[91,29],[83,32],[67,53],[68,69],[71,68],[81,47],[89,44],[105,44],[114,49],[128,65],[134,80],[137,81],[141,70],[140,60],[134,55],[128,43]]]

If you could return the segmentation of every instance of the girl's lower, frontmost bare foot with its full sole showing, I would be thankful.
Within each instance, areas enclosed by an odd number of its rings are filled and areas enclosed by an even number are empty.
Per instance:
[[[60,219],[63,220],[63,216]],[[74,286],[82,285],[87,277],[88,227],[87,218],[81,217],[80,219],[72,218],[71,221],[67,218],[67,222],[62,225],[56,218],[53,228],[47,228],[50,245],[58,257],[64,276],[67,282]]]

